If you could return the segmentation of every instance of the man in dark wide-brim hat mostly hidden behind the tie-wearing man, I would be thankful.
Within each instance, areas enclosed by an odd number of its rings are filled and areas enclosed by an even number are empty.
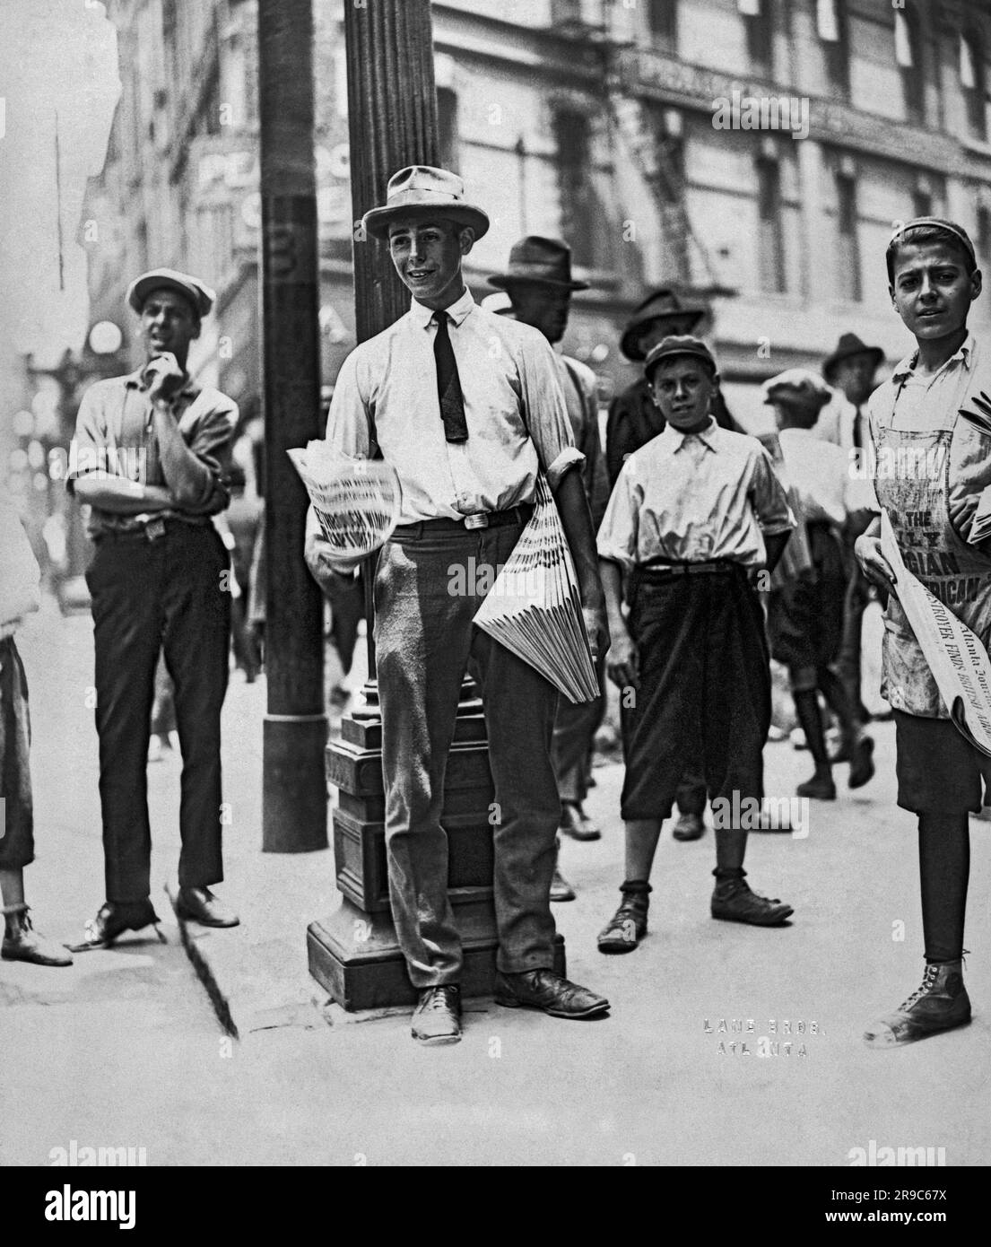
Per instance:
[[[505,273],[489,278],[489,284],[504,289],[512,313],[522,324],[539,329],[553,347],[567,328],[571,296],[587,291],[588,282],[571,274],[571,247],[561,238],[527,234],[512,244]],[[598,384],[591,368],[577,359],[555,352],[558,380],[565,394],[575,445],[585,455],[582,481],[598,529],[606,513],[610,488],[598,436]],[[605,660],[600,658],[600,685]],[[553,762],[561,794],[561,831],[577,840],[597,840],[601,831],[585,813],[592,741],[602,722],[605,696],[592,702],[572,705],[561,698],[553,732]],[[560,870],[555,872],[552,900],[572,900],[575,889]]]

